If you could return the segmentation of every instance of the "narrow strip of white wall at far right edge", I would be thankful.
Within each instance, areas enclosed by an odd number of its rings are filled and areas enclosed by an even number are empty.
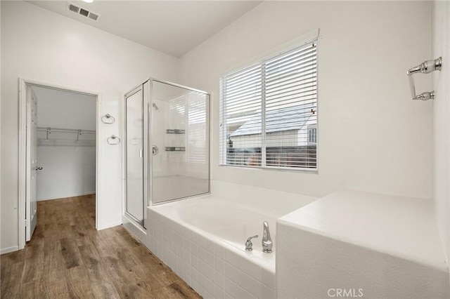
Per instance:
[[[442,70],[434,72],[433,88],[433,182],[432,194],[435,201],[437,227],[441,234],[447,264],[450,257],[450,2],[433,1],[432,55],[429,59],[442,56]]]

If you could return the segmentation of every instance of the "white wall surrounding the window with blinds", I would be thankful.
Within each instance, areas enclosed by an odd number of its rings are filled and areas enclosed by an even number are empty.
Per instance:
[[[214,93],[213,179],[318,197],[345,187],[429,199],[432,102],[409,100],[406,70],[430,57],[430,9],[427,1],[264,1],[184,55],[181,83]],[[219,76],[316,28],[319,174],[218,166]],[[418,79],[429,88],[430,77]]]

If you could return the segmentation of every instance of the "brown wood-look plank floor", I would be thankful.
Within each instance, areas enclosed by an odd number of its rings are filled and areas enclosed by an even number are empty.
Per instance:
[[[1,298],[201,298],[122,225],[95,229],[95,195],[38,202],[22,251],[0,256]]]

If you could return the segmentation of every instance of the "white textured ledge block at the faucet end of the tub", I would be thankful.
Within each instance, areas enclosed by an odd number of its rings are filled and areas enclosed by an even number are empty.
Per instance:
[[[277,242],[278,298],[449,298],[427,200],[334,192],[280,218]]]

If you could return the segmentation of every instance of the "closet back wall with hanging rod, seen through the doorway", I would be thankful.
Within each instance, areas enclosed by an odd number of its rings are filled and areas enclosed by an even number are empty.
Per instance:
[[[96,131],[96,97],[36,86],[33,90],[38,127]],[[53,132],[48,137],[45,141],[46,132],[38,132],[37,161],[43,169],[37,173],[37,200],[94,194],[96,135]],[[82,141],[75,142],[77,138]]]

